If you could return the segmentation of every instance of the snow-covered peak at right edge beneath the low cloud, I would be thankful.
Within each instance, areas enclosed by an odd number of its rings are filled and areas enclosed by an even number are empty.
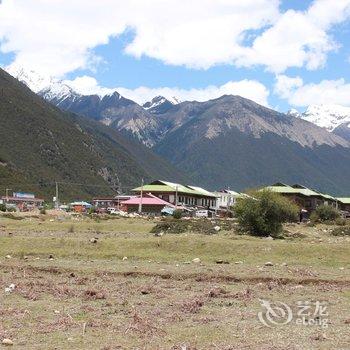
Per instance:
[[[292,109],[288,114],[307,120],[330,132],[341,124],[350,123],[350,107],[339,105],[310,105],[304,113]]]

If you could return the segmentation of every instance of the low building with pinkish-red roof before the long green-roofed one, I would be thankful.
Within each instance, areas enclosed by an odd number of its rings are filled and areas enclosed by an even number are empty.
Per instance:
[[[141,196],[130,198],[121,203],[128,213],[137,213],[141,207],[141,212],[146,214],[159,215],[165,207],[175,208],[171,203],[158,198],[151,193],[143,193]]]

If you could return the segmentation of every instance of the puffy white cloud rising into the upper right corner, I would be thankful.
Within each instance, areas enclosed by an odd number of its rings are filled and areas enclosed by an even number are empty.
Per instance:
[[[289,67],[320,68],[339,47],[328,31],[349,15],[350,0],[316,0],[306,12],[288,10],[243,50],[237,63],[262,64],[275,73]]]

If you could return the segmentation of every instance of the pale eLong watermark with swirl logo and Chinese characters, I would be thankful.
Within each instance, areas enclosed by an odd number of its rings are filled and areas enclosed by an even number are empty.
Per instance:
[[[292,307],[281,301],[260,299],[262,310],[258,312],[259,321],[266,327],[285,326],[295,323],[302,326],[321,326],[329,324],[327,303],[321,301],[298,301]],[[297,311],[293,312],[293,309]]]

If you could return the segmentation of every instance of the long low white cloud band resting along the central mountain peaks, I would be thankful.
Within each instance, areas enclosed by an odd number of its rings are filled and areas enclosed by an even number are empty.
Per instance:
[[[211,85],[202,89],[188,90],[176,87],[149,88],[144,86],[136,89],[126,89],[123,87],[109,89],[99,86],[97,80],[89,76],[79,77],[71,81],[66,80],[65,83],[81,94],[105,95],[113,91],[118,91],[122,96],[130,98],[139,104],[143,104],[158,95],[169,99],[176,97],[181,101],[206,101],[226,94],[240,95],[268,106],[267,98],[269,95],[268,89],[255,80],[229,81],[221,86]]]

